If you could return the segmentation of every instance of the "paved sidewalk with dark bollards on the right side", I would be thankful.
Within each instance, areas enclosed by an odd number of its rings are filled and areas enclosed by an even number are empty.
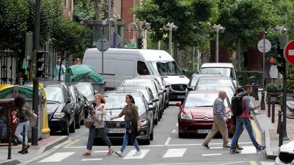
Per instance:
[[[255,105],[261,104],[261,92],[258,92],[259,100],[256,101],[255,98],[251,98],[251,101]],[[266,97],[266,95],[265,95]],[[276,159],[278,156],[278,110],[281,110],[281,106],[275,105],[275,122],[271,123],[271,117],[268,117],[268,105],[265,101],[266,108],[265,110],[254,110],[254,115],[256,117],[257,123],[262,130],[263,137],[266,145],[266,157],[268,159]],[[287,113],[290,113],[290,110],[287,108]],[[283,114],[283,113],[282,113]],[[283,118],[283,117],[282,117]],[[294,119],[287,118],[287,135],[290,140],[284,140],[283,144],[294,140]]]

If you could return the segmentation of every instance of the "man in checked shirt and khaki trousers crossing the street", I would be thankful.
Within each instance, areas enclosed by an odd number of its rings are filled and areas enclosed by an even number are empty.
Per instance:
[[[209,131],[208,135],[205,137],[205,141],[202,146],[209,149],[209,142],[212,140],[217,132],[221,132],[223,144],[222,147],[229,148],[229,132],[227,129],[227,118],[226,118],[226,108],[224,106],[224,99],[226,99],[227,93],[225,91],[219,91],[219,97],[215,99],[213,105],[213,125],[212,130]]]

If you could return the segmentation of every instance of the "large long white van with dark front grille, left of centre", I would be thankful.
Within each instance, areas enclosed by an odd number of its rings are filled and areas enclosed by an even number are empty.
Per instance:
[[[102,52],[96,48],[85,51],[83,64],[88,64],[102,74]],[[168,52],[163,50],[138,50],[110,48],[104,52],[104,79],[107,89],[114,89],[125,79],[138,75],[158,75],[170,84],[170,101],[185,98],[189,79]]]

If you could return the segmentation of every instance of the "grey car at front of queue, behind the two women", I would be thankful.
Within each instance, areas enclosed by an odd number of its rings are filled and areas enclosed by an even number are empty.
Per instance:
[[[107,91],[104,93],[106,100],[105,108],[106,115],[104,115],[104,127],[110,139],[122,139],[126,132],[124,126],[124,116],[114,120],[110,120],[112,115],[118,115],[126,106],[126,94],[131,94],[134,97],[136,106],[138,107],[138,115],[141,120],[141,131],[137,139],[143,141],[144,144],[150,144],[153,140],[153,112],[148,108],[148,103],[141,91]]]

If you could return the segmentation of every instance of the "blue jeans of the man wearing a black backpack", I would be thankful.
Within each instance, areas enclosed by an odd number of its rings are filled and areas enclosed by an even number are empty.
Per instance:
[[[258,149],[260,145],[258,142],[256,142],[256,139],[254,137],[254,132],[252,130],[251,126],[251,120],[249,118],[238,118],[236,117],[236,132],[234,133],[234,137],[231,144],[231,149],[236,149],[236,141],[238,140],[239,136],[241,135],[243,125],[246,127],[246,130],[249,134],[249,137],[251,139],[251,142],[254,144],[254,147]]]

